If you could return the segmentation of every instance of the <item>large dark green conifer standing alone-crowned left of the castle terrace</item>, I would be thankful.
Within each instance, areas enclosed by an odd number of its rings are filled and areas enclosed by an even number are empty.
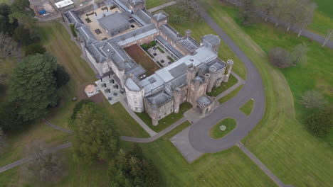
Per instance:
[[[41,118],[56,106],[56,57],[48,53],[23,58],[9,79],[9,101],[17,104],[24,121]]]

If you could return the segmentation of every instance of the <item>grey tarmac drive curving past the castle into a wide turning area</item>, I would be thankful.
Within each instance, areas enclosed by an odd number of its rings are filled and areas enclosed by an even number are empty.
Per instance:
[[[206,11],[201,11],[201,16],[208,23],[213,30],[220,36],[220,38],[226,42],[228,47],[239,57],[239,59],[245,64],[246,72],[248,72],[245,85],[240,90],[237,96],[231,98],[226,103],[219,106],[213,113],[206,118],[202,118],[194,125],[191,125],[189,130],[189,142],[194,149],[199,152],[220,152],[224,149],[228,149],[236,145],[242,140],[250,130],[255,128],[263,114],[265,112],[265,91],[263,87],[263,81],[261,80],[258,69],[255,67],[248,57],[240,50],[231,38],[213,21],[211,16]],[[249,116],[239,111],[239,108],[243,106],[251,98],[255,100],[253,111]],[[209,130],[213,125],[216,125],[224,118],[234,118],[238,125],[236,128],[228,133],[226,137],[215,140],[209,136]]]

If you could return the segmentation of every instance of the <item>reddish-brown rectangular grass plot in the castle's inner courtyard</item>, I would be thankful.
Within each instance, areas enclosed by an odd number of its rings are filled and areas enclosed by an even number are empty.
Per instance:
[[[147,70],[147,76],[154,74],[159,69],[159,66],[147,55],[144,50],[142,50],[139,45],[132,45],[126,47],[125,51],[128,53],[132,59],[141,64],[144,69]]]

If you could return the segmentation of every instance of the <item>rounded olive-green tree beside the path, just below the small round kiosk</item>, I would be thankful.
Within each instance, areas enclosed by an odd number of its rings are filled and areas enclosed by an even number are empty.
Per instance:
[[[119,132],[115,124],[95,103],[86,103],[70,123],[74,132],[75,159],[91,164],[93,160],[105,160],[117,153]]]

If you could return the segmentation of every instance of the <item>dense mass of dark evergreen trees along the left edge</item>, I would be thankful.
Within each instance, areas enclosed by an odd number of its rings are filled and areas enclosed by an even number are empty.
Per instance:
[[[58,89],[70,76],[46,53],[29,1],[0,4],[0,59],[14,57],[14,70],[0,81],[0,129],[23,130],[46,116],[59,101]],[[22,54],[24,50],[24,55]],[[2,62],[2,60],[1,60]]]

